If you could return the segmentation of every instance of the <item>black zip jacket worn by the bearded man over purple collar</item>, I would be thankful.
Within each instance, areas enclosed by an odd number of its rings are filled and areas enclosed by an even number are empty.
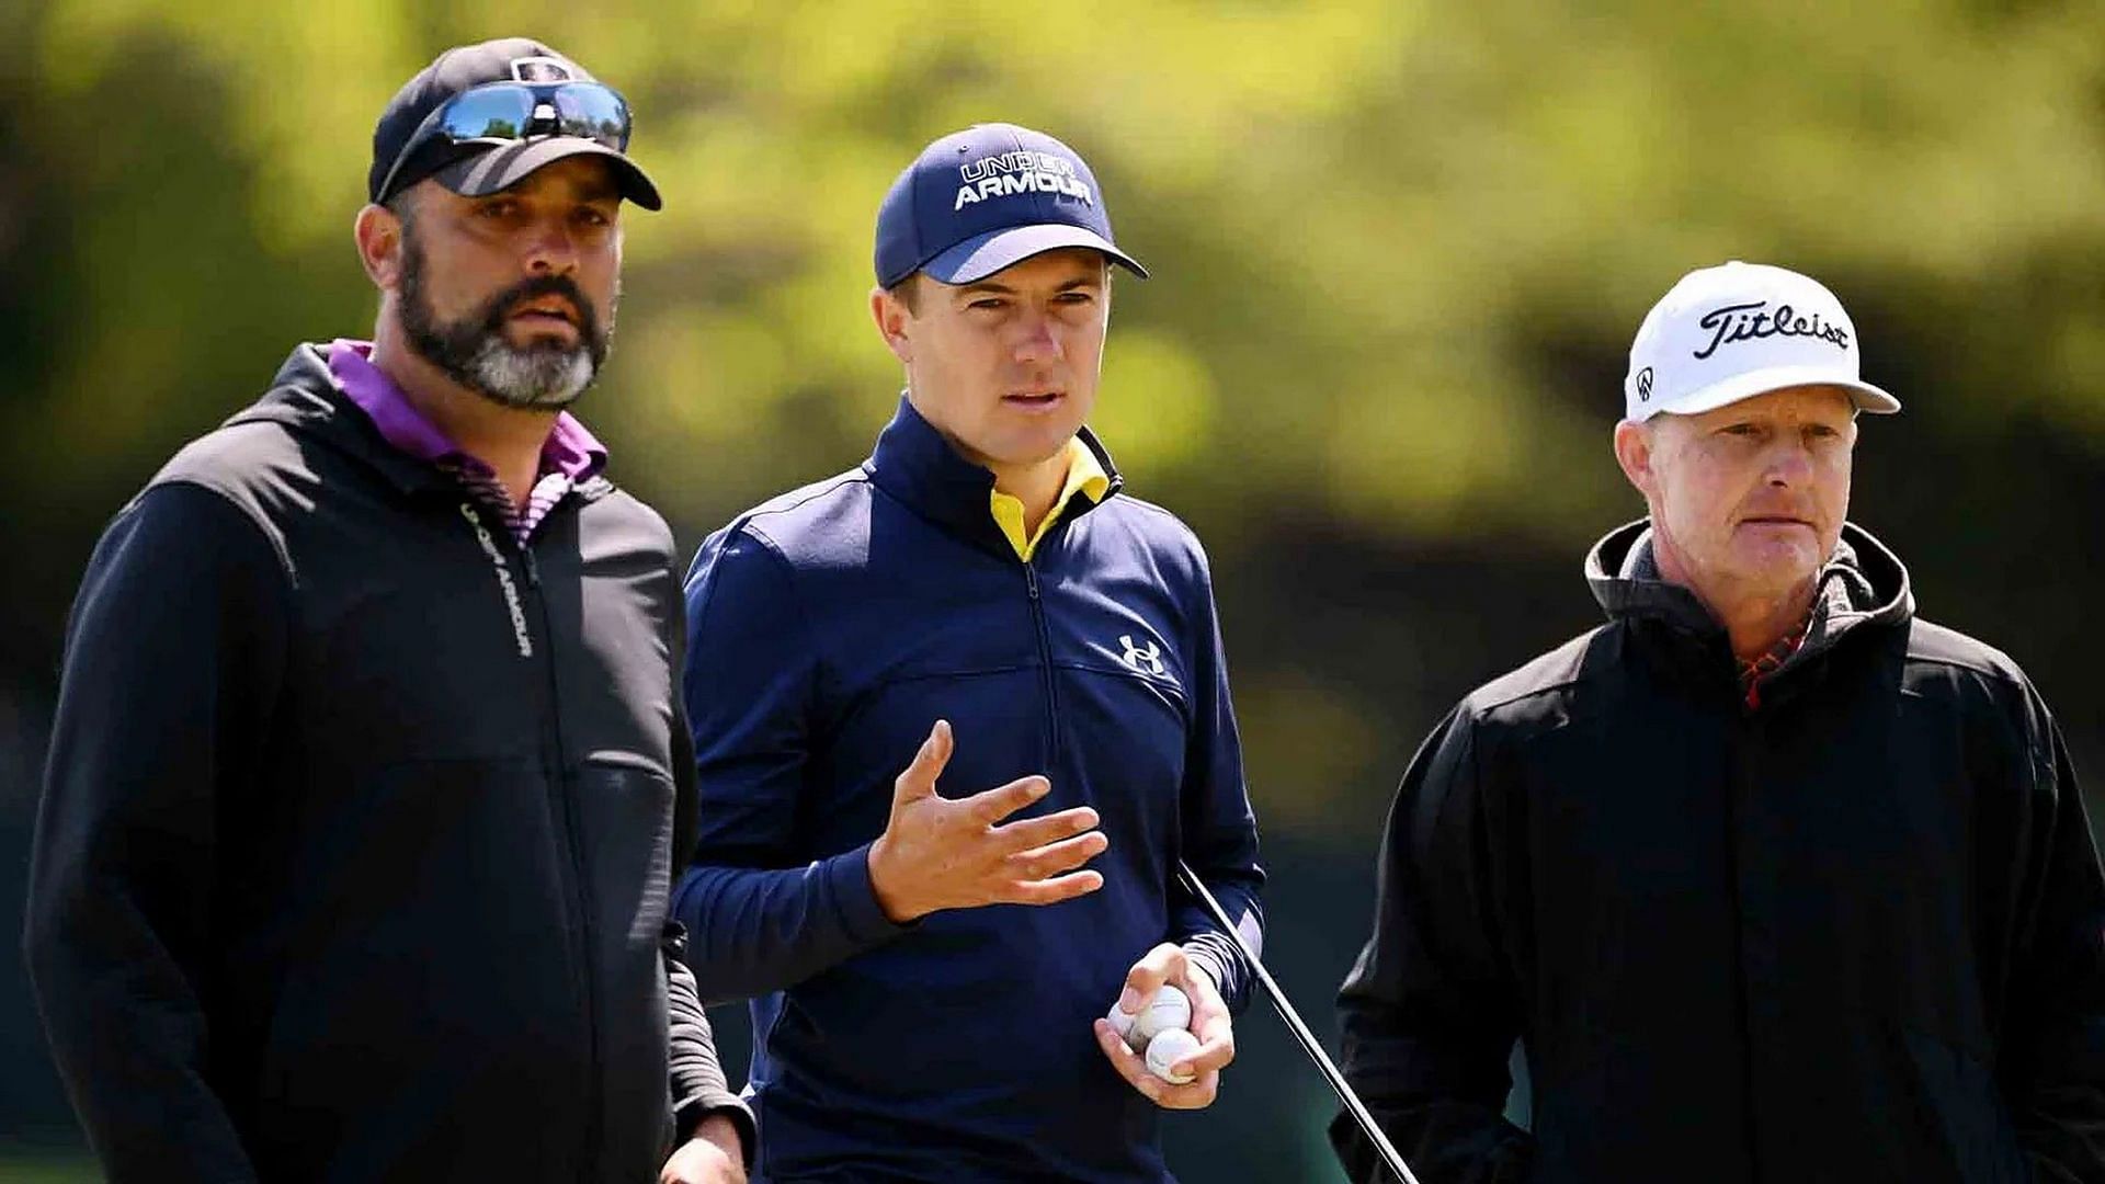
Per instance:
[[[604,478],[522,552],[314,348],[118,514],[25,927],[112,1180],[640,1182],[737,1106],[665,921],[671,556]]]

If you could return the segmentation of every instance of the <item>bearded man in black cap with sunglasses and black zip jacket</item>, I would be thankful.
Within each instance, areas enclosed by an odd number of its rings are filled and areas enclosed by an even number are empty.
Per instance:
[[[375,339],[301,346],[109,525],[25,952],[112,1180],[739,1180],[667,868],[671,535],[564,407],[627,107],[528,40],[389,103]]]

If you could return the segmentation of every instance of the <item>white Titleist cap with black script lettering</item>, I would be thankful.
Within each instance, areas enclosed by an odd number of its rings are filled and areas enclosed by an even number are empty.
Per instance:
[[[1857,327],[1812,276],[1766,263],[1688,272],[1629,346],[1623,417],[1697,415],[1787,386],[1838,386],[1859,411],[1901,400],[1859,375]]]

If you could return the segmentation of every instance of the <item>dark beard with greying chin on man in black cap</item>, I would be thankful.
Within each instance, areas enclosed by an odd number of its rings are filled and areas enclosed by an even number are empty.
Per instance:
[[[425,291],[423,244],[415,232],[402,238],[402,335],[408,348],[446,377],[501,407],[562,411],[600,375],[615,335],[615,301],[606,324],[568,276],[528,276],[482,301],[457,320],[440,320]],[[512,310],[545,295],[558,295],[577,310],[577,343],[535,339],[514,346],[505,337]]]

